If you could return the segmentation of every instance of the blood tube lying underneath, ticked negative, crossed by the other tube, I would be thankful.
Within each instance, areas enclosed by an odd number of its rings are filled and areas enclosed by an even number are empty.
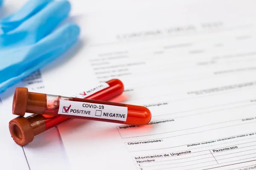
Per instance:
[[[123,91],[124,86],[122,82],[119,79],[111,79],[108,82],[90,88],[88,91],[80,92],[73,97],[108,101],[119,96]],[[71,118],[46,114],[32,114],[26,118],[18,116],[9,122],[9,130],[14,141],[23,146],[32,142],[34,136],[69,119]]]

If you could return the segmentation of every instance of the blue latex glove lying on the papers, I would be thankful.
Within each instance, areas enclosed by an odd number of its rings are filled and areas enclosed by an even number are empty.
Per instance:
[[[66,0],[29,0],[15,14],[0,19],[0,93],[76,42],[80,31],[74,23],[52,31],[69,12]]]

